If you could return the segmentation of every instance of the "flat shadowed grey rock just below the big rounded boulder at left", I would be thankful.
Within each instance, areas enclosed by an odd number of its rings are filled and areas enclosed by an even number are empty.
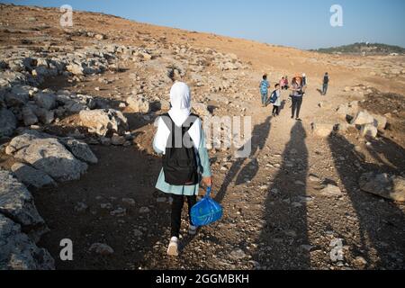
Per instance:
[[[55,181],[45,172],[23,163],[15,163],[12,166],[14,175],[28,187],[41,188],[43,186],[55,185]]]

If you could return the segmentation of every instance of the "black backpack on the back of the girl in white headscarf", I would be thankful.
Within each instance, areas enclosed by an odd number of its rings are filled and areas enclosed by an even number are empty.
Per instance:
[[[166,154],[163,157],[163,172],[167,184],[176,186],[195,185],[200,182],[198,175],[197,157],[193,147],[193,140],[188,130],[198,116],[191,114],[182,127],[175,126],[168,113],[162,115],[170,136],[167,139]],[[175,139],[175,135],[177,139]],[[179,138],[181,135],[181,140]]]

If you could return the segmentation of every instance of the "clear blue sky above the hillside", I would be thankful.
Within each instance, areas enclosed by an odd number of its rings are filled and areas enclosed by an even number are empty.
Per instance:
[[[27,0],[2,3],[55,6],[114,14],[142,23],[207,31],[300,49],[356,41],[405,47],[404,0]],[[344,26],[329,24],[332,4],[343,7]]]

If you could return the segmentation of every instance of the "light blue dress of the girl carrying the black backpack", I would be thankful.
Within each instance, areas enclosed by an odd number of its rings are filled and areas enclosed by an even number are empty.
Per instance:
[[[199,174],[202,177],[210,177],[211,176],[211,167],[210,167],[210,157],[208,157],[208,150],[206,148],[206,141],[204,137],[204,133],[202,131],[202,138],[200,142],[200,146],[195,149],[195,154],[197,155],[197,164],[199,169]],[[153,148],[157,152],[157,154],[163,154],[163,151],[160,151],[155,146],[155,140],[153,141]],[[157,190],[160,190],[164,193],[176,194],[176,195],[184,195],[184,196],[193,196],[198,194],[198,190],[200,189],[200,185],[189,185],[189,186],[175,186],[171,184],[167,184],[165,181],[165,173],[163,172],[163,168],[160,171],[160,175],[157,179],[156,184]]]

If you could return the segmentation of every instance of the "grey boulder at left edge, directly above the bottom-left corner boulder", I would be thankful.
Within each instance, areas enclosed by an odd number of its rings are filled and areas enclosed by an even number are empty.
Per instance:
[[[0,170],[0,214],[29,230],[44,229],[45,222],[31,193],[8,171]]]

